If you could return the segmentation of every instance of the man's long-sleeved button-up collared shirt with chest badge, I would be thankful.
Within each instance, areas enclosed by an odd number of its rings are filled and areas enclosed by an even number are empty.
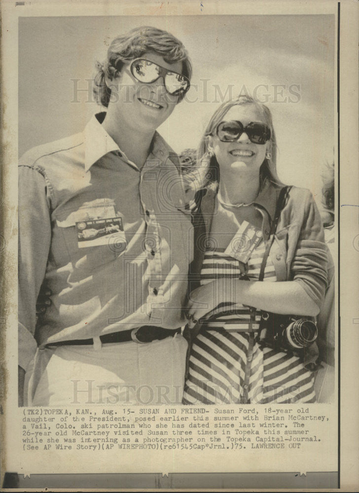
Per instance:
[[[140,170],[94,116],[19,165],[19,364],[36,346],[141,325],[177,328],[193,257],[173,151],[155,134]],[[51,305],[36,326],[45,280]],[[34,338],[35,337],[35,338]]]

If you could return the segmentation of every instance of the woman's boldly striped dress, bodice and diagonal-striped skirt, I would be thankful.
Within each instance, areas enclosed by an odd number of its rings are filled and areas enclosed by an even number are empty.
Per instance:
[[[248,262],[250,279],[259,277],[264,248],[262,241],[251,254]],[[227,256],[223,249],[207,250],[201,270],[202,285],[223,277],[238,278],[239,274],[238,260]],[[275,281],[276,275],[269,257],[263,282]],[[217,306],[207,315],[190,354],[184,404],[243,402],[249,341],[249,333],[245,330],[249,328],[249,320],[249,308],[241,304]],[[258,310],[253,328],[259,328],[259,320]],[[249,402],[315,402],[314,374],[304,368],[298,357],[261,348],[255,343],[249,364]]]

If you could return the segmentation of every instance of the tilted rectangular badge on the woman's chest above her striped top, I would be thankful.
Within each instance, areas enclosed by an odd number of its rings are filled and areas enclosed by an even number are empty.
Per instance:
[[[262,238],[263,234],[259,228],[248,221],[243,221],[224,253],[246,264]]]

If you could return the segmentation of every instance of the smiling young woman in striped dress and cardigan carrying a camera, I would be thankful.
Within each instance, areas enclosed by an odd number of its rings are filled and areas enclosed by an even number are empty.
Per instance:
[[[305,320],[325,292],[323,227],[311,193],[277,177],[269,109],[247,96],[222,104],[197,163],[183,402],[315,402],[317,334]]]

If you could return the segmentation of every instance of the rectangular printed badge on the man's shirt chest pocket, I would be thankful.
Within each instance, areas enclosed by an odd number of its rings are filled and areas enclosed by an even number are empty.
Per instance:
[[[76,235],[79,248],[108,245],[114,252],[120,252],[125,250],[127,245],[122,217],[78,221]]]

